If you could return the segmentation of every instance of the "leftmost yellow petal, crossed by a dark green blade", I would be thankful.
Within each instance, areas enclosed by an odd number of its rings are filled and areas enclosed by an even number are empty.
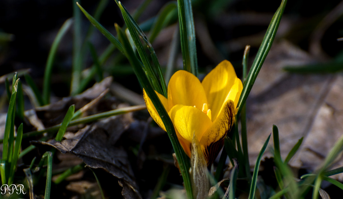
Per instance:
[[[156,92],[156,91],[155,91]],[[156,92],[157,97],[159,98],[159,100],[162,102],[163,107],[166,109],[166,111],[169,111],[169,105],[168,105],[168,100],[167,98],[165,98],[163,95],[159,94],[158,92]],[[161,117],[159,117],[156,108],[154,106],[154,104],[152,103],[151,99],[149,98],[149,96],[146,94],[145,90],[143,89],[143,97],[144,97],[144,101],[145,101],[145,105],[147,110],[149,111],[151,117],[155,120],[155,122],[163,129],[166,130],[166,128],[164,127],[164,124],[161,120]]]

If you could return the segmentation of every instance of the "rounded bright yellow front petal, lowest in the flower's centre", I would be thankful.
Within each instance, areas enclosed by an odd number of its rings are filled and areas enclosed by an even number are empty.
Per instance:
[[[190,145],[193,134],[200,140],[205,131],[212,125],[206,113],[192,106],[175,105],[169,116],[179,135]]]

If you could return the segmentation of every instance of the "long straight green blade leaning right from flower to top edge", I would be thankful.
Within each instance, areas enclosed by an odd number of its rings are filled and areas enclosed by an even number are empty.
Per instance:
[[[238,107],[238,114],[240,113],[249,93],[250,90],[255,83],[255,80],[257,78],[258,73],[260,72],[260,69],[262,67],[262,64],[267,57],[267,54],[272,46],[273,40],[275,38],[276,30],[279,27],[281,17],[283,14],[283,11],[285,10],[287,0],[282,0],[282,3],[280,7],[276,10],[272,21],[269,24],[269,27],[267,29],[267,33],[264,35],[263,41],[261,43],[261,46],[257,52],[257,55],[255,57],[255,60],[252,63],[251,69],[249,71],[247,80],[243,86],[242,93],[239,97],[239,101],[237,104]]]

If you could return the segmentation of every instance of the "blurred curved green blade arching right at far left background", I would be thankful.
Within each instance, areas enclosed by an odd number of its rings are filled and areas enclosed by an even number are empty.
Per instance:
[[[44,104],[50,103],[51,73],[52,73],[52,66],[54,64],[55,55],[56,55],[58,46],[61,43],[63,36],[67,33],[72,22],[73,22],[72,19],[68,19],[66,22],[64,22],[63,25],[61,26],[61,28],[59,29],[59,31],[58,31],[55,39],[54,39],[54,42],[52,42],[52,46],[51,46],[50,51],[49,51],[49,55],[48,55],[48,59],[46,61],[46,66],[45,66],[45,71],[44,71],[44,83],[43,83],[43,102],[44,102]]]

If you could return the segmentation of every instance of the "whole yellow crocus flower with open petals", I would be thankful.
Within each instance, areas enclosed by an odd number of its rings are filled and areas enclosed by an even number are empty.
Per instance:
[[[235,109],[243,89],[232,64],[224,60],[203,81],[187,71],[177,71],[168,84],[168,99],[157,94],[174,124],[178,140],[191,156],[193,134],[208,164],[223,146],[224,137],[234,123]],[[143,90],[146,108],[164,130],[152,101]]]

